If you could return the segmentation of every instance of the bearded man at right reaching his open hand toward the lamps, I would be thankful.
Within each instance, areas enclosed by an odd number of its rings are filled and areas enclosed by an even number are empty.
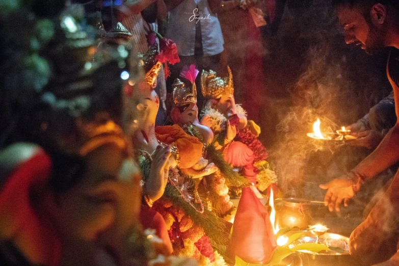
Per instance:
[[[384,47],[399,48],[399,1],[334,0],[345,42],[355,44],[368,54]],[[387,76],[392,85],[395,112],[399,114],[399,53],[392,50],[387,63]],[[367,179],[373,178],[399,161],[399,121],[391,128],[376,150],[348,174],[321,185],[328,189],[325,201],[330,211],[359,191]],[[367,263],[381,262],[396,251],[399,231],[399,173],[396,173],[384,197],[371,210],[367,219],[351,235],[350,251]],[[399,255],[399,253],[396,253]],[[395,255],[395,256],[397,256]],[[394,256],[394,257],[395,257]],[[385,265],[397,265],[392,257]],[[391,263],[391,264],[389,264]],[[393,263],[393,264],[392,264]]]

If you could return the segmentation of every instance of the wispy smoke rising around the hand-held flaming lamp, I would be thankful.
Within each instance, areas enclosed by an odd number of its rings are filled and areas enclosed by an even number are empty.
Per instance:
[[[351,83],[344,79],[344,58],[326,43],[309,48],[308,67],[291,91],[294,106],[277,125],[283,141],[272,150],[272,162],[279,177],[279,186],[286,196],[300,196],[304,175],[327,163],[333,152],[343,145],[341,141],[314,140],[313,123],[321,120],[322,132],[334,132],[343,126],[342,120],[354,120],[348,107]],[[346,119],[342,119],[346,116]],[[323,159],[310,161],[317,153]],[[341,173],[329,173],[337,175]]]

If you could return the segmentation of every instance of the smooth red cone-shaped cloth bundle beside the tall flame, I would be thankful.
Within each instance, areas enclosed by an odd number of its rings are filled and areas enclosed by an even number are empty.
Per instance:
[[[227,252],[248,263],[268,263],[277,247],[267,209],[250,188],[244,188],[234,218]]]

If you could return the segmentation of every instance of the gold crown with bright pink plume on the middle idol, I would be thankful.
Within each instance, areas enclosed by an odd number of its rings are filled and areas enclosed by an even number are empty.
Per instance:
[[[195,78],[197,77],[198,72],[199,71],[195,68],[195,65],[191,65],[190,68],[185,66],[180,72],[181,77],[187,78],[191,82],[191,87],[186,87],[179,78],[175,79],[172,88],[173,102],[177,107],[190,103],[197,103],[197,87],[195,86]]]

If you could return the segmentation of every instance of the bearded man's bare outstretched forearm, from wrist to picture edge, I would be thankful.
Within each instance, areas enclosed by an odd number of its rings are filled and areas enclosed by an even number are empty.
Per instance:
[[[381,173],[394,163],[399,161],[399,124],[389,130],[380,145],[368,155],[353,171],[363,180],[369,179]]]

